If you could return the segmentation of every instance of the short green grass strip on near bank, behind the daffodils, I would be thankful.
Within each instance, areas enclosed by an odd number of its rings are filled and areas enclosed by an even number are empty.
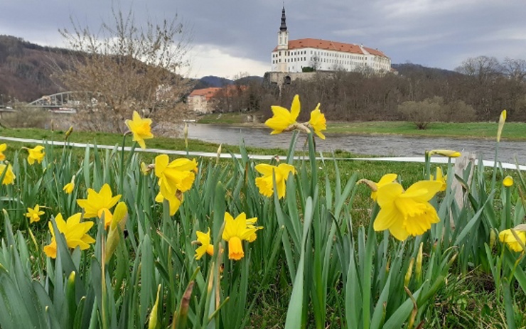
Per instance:
[[[507,131],[508,126],[505,127],[504,131]],[[0,131],[0,136],[16,137],[23,139],[37,139],[45,141],[64,141],[65,131],[50,131],[46,129],[2,129]],[[121,145],[122,144],[122,134],[109,134],[104,132],[94,132],[94,131],[74,131],[70,135],[68,141],[75,143],[92,143],[97,145]],[[4,141],[0,140],[0,143]],[[8,149],[6,151],[7,158],[12,158],[16,149],[21,149],[22,147],[33,148],[35,145],[31,143],[18,143],[5,141],[8,144]],[[126,139],[126,146],[132,146],[133,141],[131,136],[128,136]],[[184,139],[177,138],[168,138],[168,137],[155,137],[154,139],[146,140],[146,146],[150,149],[166,149],[166,150],[184,150],[185,143]],[[188,141],[188,148],[190,151],[203,151],[203,152],[212,152],[215,153],[218,151],[218,144],[207,143],[198,140]],[[247,147],[247,152],[249,154],[276,154],[284,156],[286,150],[284,149],[258,149],[255,147]],[[55,151],[59,154],[62,151],[61,146],[57,146]],[[240,146],[236,145],[223,145],[222,153],[239,153]],[[78,159],[81,159],[84,156],[84,149],[82,148],[73,148],[73,152]],[[104,151],[101,150],[100,154],[102,155]],[[423,152],[423,151],[422,151]],[[25,151],[21,151],[25,155]],[[302,155],[301,152],[296,152],[296,155]],[[141,153],[143,161],[146,163],[152,163],[154,161],[157,153]],[[352,158],[356,156],[364,157],[362,155],[357,155],[345,151],[338,151],[335,154],[337,158]],[[330,157],[331,154],[324,154],[324,156]],[[173,158],[173,156],[171,156]],[[365,156],[367,157],[367,156]],[[215,159],[210,159],[206,161],[215,161]],[[220,165],[224,166],[227,163],[230,163],[230,159],[222,158]],[[378,181],[382,178],[385,173],[397,173],[398,180],[402,185],[408,187],[412,183],[422,180],[424,178],[424,167],[422,163],[403,163],[403,162],[384,162],[384,161],[337,161],[338,169],[342,179],[350,178],[353,173],[358,173],[358,179],[368,179],[373,181]],[[325,180],[328,177],[328,180],[333,183],[336,178],[336,169],[334,166],[334,161],[326,159],[325,161],[318,161],[319,168],[319,180]],[[443,166],[445,169],[445,166]],[[434,170],[433,170],[434,171]],[[515,171],[505,171],[505,175],[515,175]],[[488,174],[490,179],[490,175]],[[352,208],[353,216],[355,217],[355,222],[357,225],[367,225],[367,222],[370,218],[370,213],[368,209],[372,206],[372,200],[369,198],[370,190],[363,186],[358,189],[358,193],[355,196],[356,198],[356,207]]]

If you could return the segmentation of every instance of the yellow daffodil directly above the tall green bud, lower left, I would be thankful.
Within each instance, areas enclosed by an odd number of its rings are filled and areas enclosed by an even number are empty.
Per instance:
[[[100,218],[104,214],[104,226],[108,227],[113,217],[110,209],[117,204],[120,198],[120,194],[113,196],[112,189],[108,184],[104,184],[98,193],[88,188],[87,198],[78,199],[77,204],[84,209],[85,218]]]

